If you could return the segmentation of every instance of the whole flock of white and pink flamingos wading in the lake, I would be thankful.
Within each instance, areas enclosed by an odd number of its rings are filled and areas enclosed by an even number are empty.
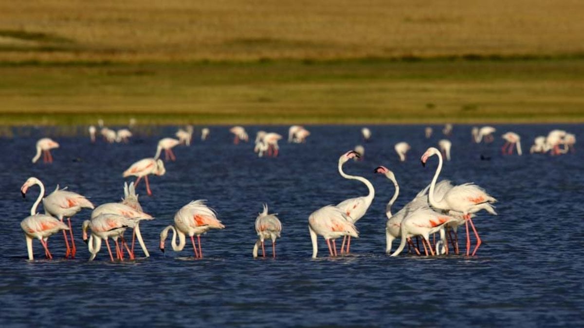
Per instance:
[[[100,125],[103,125],[103,123],[100,122]],[[96,141],[96,131],[95,127],[89,127],[92,142]],[[233,127],[230,131],[234,134],[234,144],[249,141],[244,127]],[[451,131],[452,125],[447,124],[442,132],[448,136]],[[495,131],[493,127],[475,127],[472,129],[472,140],[477,143],[492,142]],[[101,127],[100,134],[107,142],[127,142],[128,138],[132,136],[128,129],[114,131],[105,127]],[[210,130],[203,128],[201,130],[201,140],[206,140],[209,134]],[[364,141],[371,138],[371,131],[368,128],[363,128],[361,134]],[[432,128],[427,127],[425,130],[426,138],[430,138],[432,134]],[[53,255],[48,250],[48,238],[59,231],[62,231],[65,240],[65,258],[73,259],[77,248],[75,246],[71,217],[83,208],[93,210],[91,219],[82,223],[82,238],[87,243],[89,253],[91,253],[89,260],[95,259],[103,240],[106,243],[110,260],[114,261],[109,239],[113,240],[116,253],[115,259],[117,260],[124,260],[126,256],[124,253],[127,253],[129,259],[135,258],[134,245],[136,239],[144,255],[146,257],[150,256],[140,233],[140,222],[151,220],[153,217],[142,211],[135,189],[141,179],[144,178],[147,193],[152,195],[148,176],[162,176],[166,172],[164,162],[159,158],[161,152],[164,150],[166,160],[176,160],[172,148],[180,144],[190,145],[192,135],[193,128],[189,126],[185,130],[180,129],[176,132],[178,139],[161,139],[158,142],[154,157],[138,160],[138,162],[135,162],[124,171],[124,177],[135,176],[137,179],[129,185],[124,183],[124,198],[121,203],[106,203],[95,207],[84,196],[68,191],[67,188],[60,189],[59,186],[52,193],[45,196],[44,185],[39,179],[30,177],[26,180],[20,189],[23,197],[25,197],[30,187],[35,185],[40,187],[40,194],[30,209],[30,216],[23,219],[20,224],[25,232],[29,260],[34,259],[33,239],[40,241],[46,258],[52,259]],[[305,128],[300,125],[293,125],[289,129],[288,142],[302,143],[306,141],[309,135],[310,132]],[[256,135],[254,150],[258,153],[258,156],[278,156],[278,141],[282,138],[280,134],[274,132],[259,131]],[[506,132],[502,135],[502,138],[505,139],[505,145],[502,147],[504,154],[512,154],[513,149],[516,148],[517,155],[522,155],[519,135],[514,132]],[[573,134],[563,130],[553,130],[547,136],[537,137],[534,140],[534,145],[530,148],[530,153],[550,152],[551,155],[561,155],[573,151],[575,142],[576,138]],[[418,255],[421,255],[422,252],[425,256],[449,254],[450,252],[458,254],[457,228],[461,225],[465,225],[466,231],[465,254],[474,256],[481,245],[481,239],[472,222],[472,218],[481,210],[496,215],[492,205],[496,202],[496,199],[476,184],[464,183],[453,186],[449,180],[438,181],[444,158],[450,160],[451,142],[448,139],[442,139],[438,145],[440,150],[430,147],[423,153],[421,158],[422,165],[432,165],[432,160],[430,159],[433,156],[437,158],[436,173],[434,173],[432,181],[395,214],[392,214],[392,205],[399,196],[397,179],[394,173],[384,166],[379,166],[374,171],[385,175],[395,186],[394,195],[388,202],[385,211],[387,215],[385,228],[387,246],[385,252],[391,254],[391,256],[397,256],[404,251],[406,246],[408,247],[408,252]],[[32,162],[37,162],[41,153],[43,162],[53,162],[50,149],[58,148],[58,146],[59,144],[50,138],[40,139],[36,144],[37,152]],[[410,146],[406,142],[399,142],[395,145],[395,151],[400,160],[406,159],[406,153],[409,149]],[[338,256],[339,253],[348,254],[350,252],[351,239],[359,237],[356,223],[366,214],[375,196],[375,190],[373,184],[364,177],[347,175],[343,171],[343,166],[350,159],[358,160],[363,155],[364,148],[361,145],[357,146],[355,150],[344,153],[339,158],[338,171],[340,176],[345,179],[357,180],[365,184],[369,193],[366,196],[350,198],[337,205],[327,205],[312,212],[308,218],[308,230],[312,241],[313,258],[317,257],[318,253],[318,235],[325,239],[329,254],[332,257]],[[41,202],[43,203],[45,214],[37,213],[37,207]],[[66,223],[65,218],[67,218]],[[133,229],[131,245],[128,245],[124,239],[124,232],[128,228]],[[194,257],[202,258],[203,249],[201,248],[200,236],[211,229],[224,228],[225,226],[217,219],[215,211],[208,207],[204,200],[195,200],[180,208],[175,214],[174,224],[168,225],[162,230],[159,247],[164,252],[168,233],[172,231],[171,245],[173,250],[176,252],[183,250],[187,243],[187,236],[189,236],[193,246]],[[266,256],[264,245],[266,239],[272,241],[272,256],[276,257],[276,239],[280,237],[282,225],[276,215],[269,214],[266,204],[263,205],[263,211],[256,218],[255,229],[258,233],[258,240],[253,247],[253,257],[258,257],[260,248],[262,256]],[[471,230],[475,236],[475,246],[472,252]],[[436,238],[436,233],[439,233],[439,238]],[[176,242],[177,236],[179,239],[178,244]],[[335,243],[338,238],[343,238],[339,251]],[[397,238],[401,240],[399,246],[394,252],[391,252],[392,242]],[[420,240],[422,247],[419,246]],[[452,250],[450,250],[450,247],[452,247]]]

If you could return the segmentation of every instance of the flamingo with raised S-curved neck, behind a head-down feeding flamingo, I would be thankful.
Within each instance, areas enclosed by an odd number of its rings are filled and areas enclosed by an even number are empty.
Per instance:
[[[359,157],[359,153],[355,151],[348,151],[340,156],[338,166],[339,174],[345,179],[358,180],[364,183],[365,186],[367,186],[367,190],[369,190],[369,194],[367,194],[367,196],[349,198],[336,205],[336,207],[340,208],[340,210],[342,210],[343,213],[347,215],[349,221],[352,224],[355,224],[357,221],[359,221],[360,218],[363,217],[363,215],[365,215],[367,209],[369,208],[371,202],[373,201],[373,198],[375,197],[375,189],[373,189],[373,184],[371,184],[369,180],[360,176],[347,175],[345,172],[343,172],[343,165],[347,162],[347,160],[355,157]],[[344,250],[345,242],[347,243],[346,252],[349,253],[351,245],[351,235],[347,235],[347,238],[343,238],[343,243],[340,246],[341,253],[345,252]]]

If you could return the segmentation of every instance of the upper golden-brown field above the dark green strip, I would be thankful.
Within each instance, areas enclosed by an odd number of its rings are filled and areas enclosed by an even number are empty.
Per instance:
[[[0,0],[0,61],[584,54],[581,0]]]

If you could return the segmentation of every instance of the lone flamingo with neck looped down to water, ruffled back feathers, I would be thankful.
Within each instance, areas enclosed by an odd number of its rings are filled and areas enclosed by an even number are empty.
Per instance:
[[[194,257],[203,258],[201,249],[201,235],[210,229],[225,229],[225,226],[217,219],[215,211],[205,205],[206,200],[194,200],[183,206],[175,214],[175,225],[169,225],[160,233],[160,250],[164,253],[164,243],[168,236],[168,231],[172,230],[172,249],[180,252],[185,248],[185,235],[189,235],[193,243]],[[176,235],[179,236],[179,245],[176,245]],[[194,242],[197,236],[199,250]]]

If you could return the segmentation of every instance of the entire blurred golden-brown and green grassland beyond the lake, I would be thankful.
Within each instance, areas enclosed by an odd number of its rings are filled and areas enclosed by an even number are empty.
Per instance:
[[[584,2],[0,0],[4,124],[584,121]]]

